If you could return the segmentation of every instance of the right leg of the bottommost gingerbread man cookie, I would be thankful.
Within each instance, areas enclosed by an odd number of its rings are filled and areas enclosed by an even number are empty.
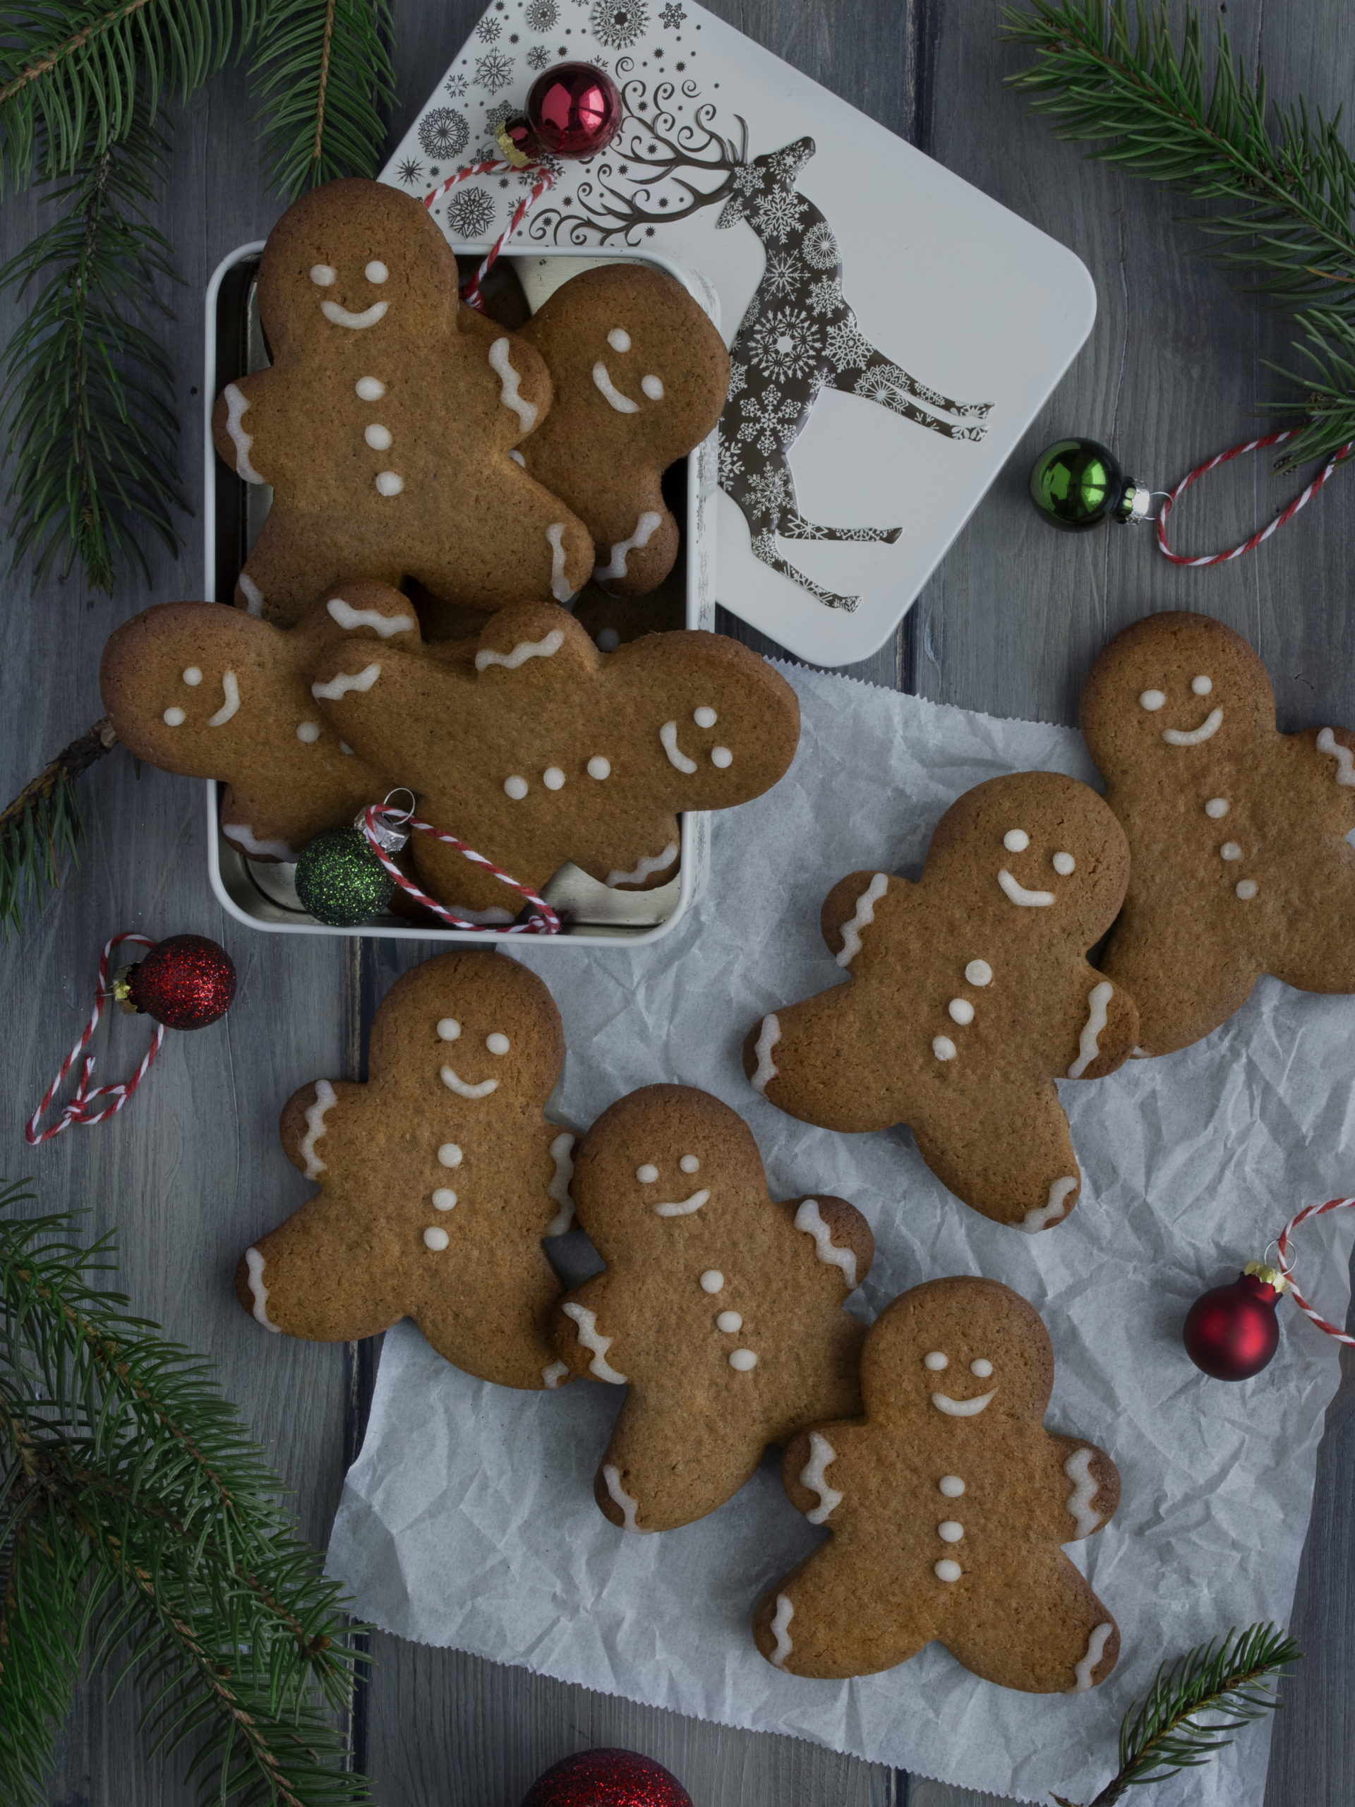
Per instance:
[[[1021,1550],[1010,1574],[985,1576],[950,1603],[939,1637],[974,1675],[1026,1693],[1084,1693],[1120,1655],[1115,1621],[1057,1549]]]

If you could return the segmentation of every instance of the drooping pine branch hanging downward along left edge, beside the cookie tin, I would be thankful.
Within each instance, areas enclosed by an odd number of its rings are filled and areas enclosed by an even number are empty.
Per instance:
[[[173,367],[148,331],[172,318],[157,282],[179,280],[146,219],[166,150],[136,123],[51,193],[61,217],[0,269],[0,289],[36,289],[5,349],[11,571],[31,555],[34,587],[60,555],[94,589],[112,587],[119,555],[148,576],[137,522],[181,544]]]

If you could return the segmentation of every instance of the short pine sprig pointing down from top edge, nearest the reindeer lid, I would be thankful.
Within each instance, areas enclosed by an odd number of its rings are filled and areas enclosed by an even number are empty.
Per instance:
[[[260,0],[253,43],[269,183],[289,201],[376,175],[396,101],[388,0]]]

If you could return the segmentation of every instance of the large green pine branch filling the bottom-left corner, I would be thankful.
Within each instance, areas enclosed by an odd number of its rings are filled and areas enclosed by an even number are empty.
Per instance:
[[[325,1713],[360,1661],[336,1587],[211,1366],[92,1285],[112,1245],[70,1222],[0,1220],[0,1782],[45,1798],[85,1650],[136,1677],[152,1751],[192,1747],[204,1802],[367,1800]]]

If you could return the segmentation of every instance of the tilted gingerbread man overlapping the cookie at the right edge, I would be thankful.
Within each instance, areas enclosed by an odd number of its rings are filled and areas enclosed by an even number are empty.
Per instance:
[[[918,884],[853,873],[824,940],[847,972],[750,1030],[744,1070],[824,1129],[911,1124],[932,1173],[999,1223],[1061,1223],[1082,1185],[1055,1079],[1135,1046],[1129,994],[1086,963],[1129,880],[1124,829],[1086,784],[1019,772],[941,817]]]

